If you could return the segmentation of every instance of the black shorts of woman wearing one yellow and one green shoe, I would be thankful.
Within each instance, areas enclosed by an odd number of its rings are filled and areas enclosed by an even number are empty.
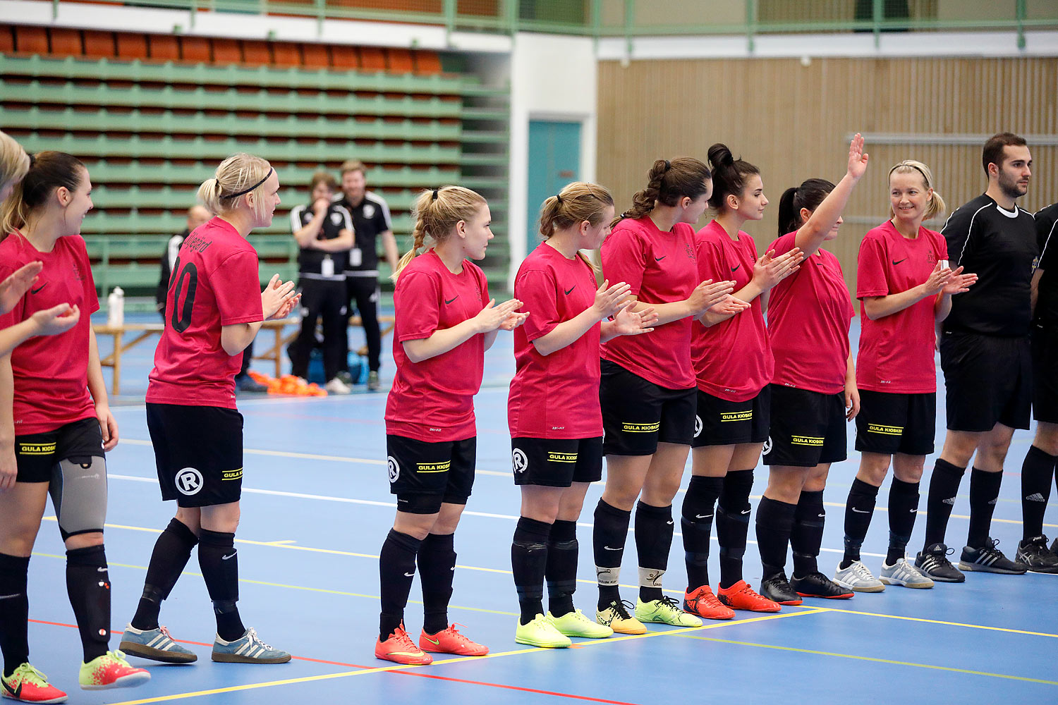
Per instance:
[[[691,445],[697,389],[668,389],[601,361],[603,445],[606,456],[652,456],[658,443]]]

